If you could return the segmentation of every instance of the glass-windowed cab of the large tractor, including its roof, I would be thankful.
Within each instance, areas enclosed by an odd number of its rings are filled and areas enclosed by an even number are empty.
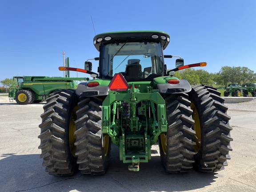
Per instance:
[[[121,73],[127,81],[148,81],[164,76],[163,49],[169,43],[169,35],[159,31],[112,32],[94,37],[94,45],[100,51],[99,77],[112,79]]]

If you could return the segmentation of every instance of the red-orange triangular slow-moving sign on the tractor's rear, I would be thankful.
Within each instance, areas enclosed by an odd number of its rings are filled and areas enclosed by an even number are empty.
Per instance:
[[[121,73],[116,73],[108,85],[108,88],[111,91],[126,91],[128,86],[129,85],[124,79],[124,76]]]

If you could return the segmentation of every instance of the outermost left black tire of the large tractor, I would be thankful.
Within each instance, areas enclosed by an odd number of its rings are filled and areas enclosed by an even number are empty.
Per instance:
[[[78,97],[75,90],[61,90],[50,94],[41,114],[42,123],[39,125],[41,133],[40,158],[43,158],[45,171],[53,176],[72,175],[76,169],[76,160],[71,157],[68,147],[67,131],[68,111],[75,105]]]

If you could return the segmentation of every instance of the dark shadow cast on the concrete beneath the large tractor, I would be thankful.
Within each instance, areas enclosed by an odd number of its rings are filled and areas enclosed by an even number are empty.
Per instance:
[[[88,176],[77,172],[66,177],[48,175],[42,167],[40,154],[2,154],[0,191],[181,192],[204,188],[218,178],[216,173],[194,170],[180,174],[166,173],[157,150],[153,150],[152,154],[154,156],[148,163],[140,163],[139,172],[128,171],[129,164],[119,160],[119,149],[112,144],[111,164],[105,175]]]

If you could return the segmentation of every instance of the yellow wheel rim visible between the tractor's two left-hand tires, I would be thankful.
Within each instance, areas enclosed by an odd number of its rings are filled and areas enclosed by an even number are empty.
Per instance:
[[[68,132],[68,140],[69,140],[69,148],[70,151],[72,153],[72,156],[76,156],[76,135],[75,135],[75,131],[76,131],[76,111],[77,111],[78,107],[74,107],[71,115],[70,115],[70,119],[69,119],[69,132]]]

